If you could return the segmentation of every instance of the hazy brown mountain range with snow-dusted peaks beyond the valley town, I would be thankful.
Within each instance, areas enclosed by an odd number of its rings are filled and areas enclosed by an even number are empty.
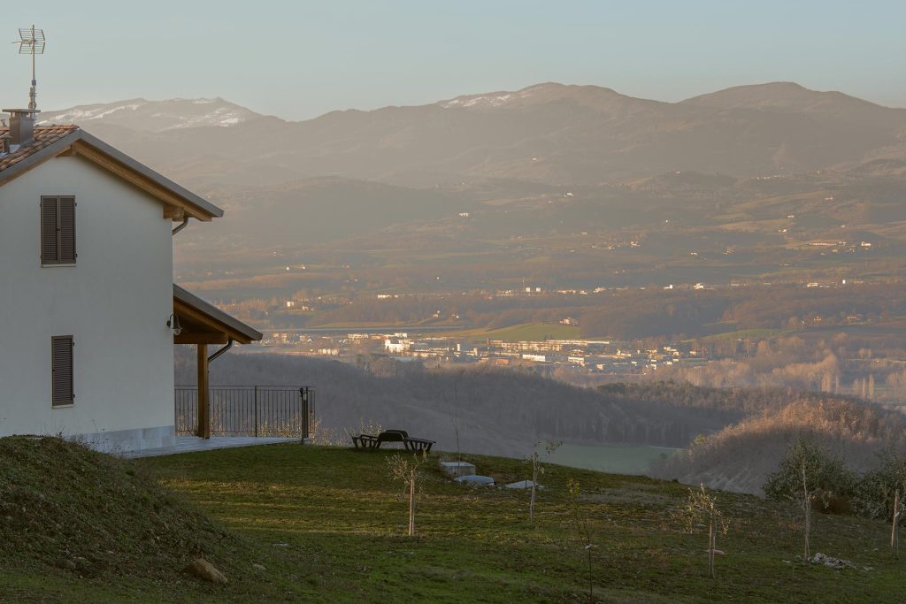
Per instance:
[[[544,83],[306,121],[221,99],[42,119],[224,207],[178,237],[176,259],[230,298],[317,279],[331,292],[870,279],[906,257],[906,110],[789,82],[676,103]]]

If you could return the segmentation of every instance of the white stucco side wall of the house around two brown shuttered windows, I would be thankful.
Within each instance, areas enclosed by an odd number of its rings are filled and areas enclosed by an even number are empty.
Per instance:
[[[75,266],[41,266],[42,195],[76,198]],[[158,201],[82,158],[0,187],[0,436],[93,435],[113,449],[172,441],[170,229]],[[51,405],[55,335],[75,343],[72,407]]]

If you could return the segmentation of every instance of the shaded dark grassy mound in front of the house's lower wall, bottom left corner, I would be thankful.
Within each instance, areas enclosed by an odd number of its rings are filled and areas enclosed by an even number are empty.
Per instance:
[[[230,532],[144,468],[53,437],[0,438],[0,602],[200,601],[202,554],[236,599],[279,599],[253,564],[271,549]]]

